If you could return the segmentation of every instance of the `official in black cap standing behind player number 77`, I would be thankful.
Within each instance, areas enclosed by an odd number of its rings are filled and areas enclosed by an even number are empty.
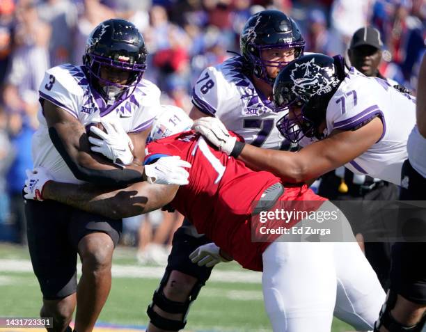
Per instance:
[[[380,32],[372,26],[363,26],[352,35],[347,55],[351,65],[356,70],[367,77],[384,79],[395,88],[398,83],[384,77],[378,69],[382,60],[383,47]],[[398,88],[403,87],[398,86]],[[403,92],[408,92],[408,90],[405,89]],[[318,194],[331,200],[397,200],[399,192],[396,184],[368,175],[354,175],[345,166],[324,174],[318,187]],[[371,210],[365,212],[370,215],[379,212],[382,208],[380,204],[368,203],[368,205]],[[344,210],[345,207],[342,206],[342,209]],[[387,291],[390,283],[390,248],[392,243],[372,242],[372,237],[377,236],[382,230],[374,225],[373,218],[361,219],[358,213],[356,216],[356,218],[350,218],[350,212],[347,214],[355,234],[359,234],[358,243],[363,248],[365,257],[372,264],[381,285]]]

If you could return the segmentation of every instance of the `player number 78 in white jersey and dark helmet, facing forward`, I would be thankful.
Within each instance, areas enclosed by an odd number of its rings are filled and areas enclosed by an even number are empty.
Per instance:
[[[194,86],[190,116],[216,116],[246,143],[288,150],[276,128],[272,86],[278,72],[303,54],[305,40],[297,24],[278,10],[253,15],[242,31],[242,56],[206,68]],[[278,110],[280,111],[280,110]]]

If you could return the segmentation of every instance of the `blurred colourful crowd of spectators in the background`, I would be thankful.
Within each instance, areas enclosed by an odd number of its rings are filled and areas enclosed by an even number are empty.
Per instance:
[[[148,47],[144,77],[159,86],[164,104],[189,111],[200,72],[238,53],[246,19],[265,8],[296,20],[307,52],[346,54],[357,29],[375,26],[384,42],[381,74],[416,86],[425,50],[424,0],[0,0],[0,240],[26,241],[21,192],[25,169],[32,168],[38,85],[47,68],[81,64],[97,24],[111,17],[133,22]],[[133,237],[124,239],[140,243],[145,261],[145,245],[168,243],[181,218],[141,219],[125,223]],[[161,236],[152,235],[152,225]]]

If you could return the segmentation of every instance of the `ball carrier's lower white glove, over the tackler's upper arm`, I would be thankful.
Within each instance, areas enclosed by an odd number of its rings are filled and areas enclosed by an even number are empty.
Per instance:
[[[145,175],[149,183],[157,184],[188,184],[190,168],[188,161],[181,160],[179,156],[162,157],[150,165],[145,165]]]

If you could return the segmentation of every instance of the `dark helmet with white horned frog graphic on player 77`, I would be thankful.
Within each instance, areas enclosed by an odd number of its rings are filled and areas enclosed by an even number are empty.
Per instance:
[[[322,139],[318,126],[345,75],[342,56],[324,54],[301,56],[281,70],[273,89],[275,106],[281,110],[301,108],[299,115],[289,111],[276,123],[285,139],[292,143],[304,136]]]

